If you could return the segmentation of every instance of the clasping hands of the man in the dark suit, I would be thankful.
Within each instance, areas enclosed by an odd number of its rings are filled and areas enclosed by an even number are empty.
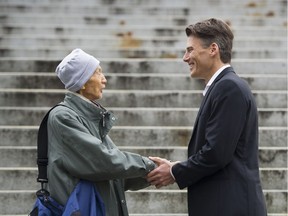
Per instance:
[[[174,164],[180,161],[171,162],[160,157],[149,157],[149,159],[157,165],[157,167],[147,175],[147,181],[151,185],[155,185],[156,188],[161,188],[175,182],[171,169]]]

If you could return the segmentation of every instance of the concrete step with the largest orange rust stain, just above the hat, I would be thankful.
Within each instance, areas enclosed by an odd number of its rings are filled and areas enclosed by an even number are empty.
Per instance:
[[[37,26],[34,26],[37,28]],[[5,37],[0,41],[0,46],[2,49],[11,49],[13,50],[31,50],[35,48],[40,50],[59,50],[60,47],[73,48],[73,47],[83,47],[83,49],[91,48],[91,45],[97,46],[101,44],[101,49],[112,49],[112,48],[165,48],[169,46],[174,49],[182,49],[184,52],[186,48],[186,40],[183,40],[183,36],[139,36],[135,37],[133,35],[127,36],[117,36],[117,35],[105,35],[105,36],[94,36],[85,37],[85,38],[24,38],[23,37]],[[90,46],[89,46],[90,45]],[[278,37],[239,37],[235,38],[233,41],[234,51],[237,52],[238,48],[246,48],[248,51],[253,51],[255,48],[256,51],[260,48],[263,51],[269,51],[270,49],[263,49],[263,47],[270,45],[271,47],[282,48],[283,51],[287,50],[287,37],[278,36]],[[19,47],[21,46],[21,48]],[[97,50],[97,49],[95,49]],[[261,51],[261,50],[260,50]],[[26,54],[28,55],[28,53]],[[25,55],[23,55],[25,56]],[[29,55],[28,55],[29,57]]]

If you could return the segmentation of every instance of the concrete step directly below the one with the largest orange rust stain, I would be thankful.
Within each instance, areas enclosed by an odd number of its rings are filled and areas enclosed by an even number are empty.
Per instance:
[[[114,40],[115,41],[115,40]],[[90,50],[93,52],[94,56],[100,56],[101,58],[182,58],[184,55],[184,46],[182,48],[179,47],[167,47],[167,45],[156,45],[152,44],[146,45],[146,43],[142,43],[141,40],[129,40],[128,43],[122,42],[122,39],[119,39],[119,44],[114,47],[101,48],[97,50]],[[44,44],[45,42],[43,42]],[[122,43],[124,45],[122,45]],[[149,42],[150,43],[150,42]],[[152,42],[154,43],[154,42]],[[168,42],[169,43],[169,42]],[[270,42],[264,42],[270,43]],[[278,45],[275,47],[285,47],[285,45],[280,45],[281,42],[275,42]],[[97,45],[101,44],[99,41],[94,41],[93,46],[97,47]],[[79,45],[77,42],[75,44],[66,44],[66,42],[60,42],[59,45],[51,45],[51,46],[34,46],[34,45],[11,45],[11,46],[2,46],[0,48],[0,57],[11,57],[16,58],[20,56],[26,56],[30,58],[36,58],[37,56],[40,58],[54,58],[65,56],[67,50],[72,50],[75,47],[81,47],[83,50],[89,50],[90,47],[87,41],[85,41],[82,45]],[[140,45],[141,44],[141,45]],[[158,42],[157,42],[158,44]],[[273,42],[272,42],[273,44]],[[258,45],[257,45],[258,46]],[[260,45],[259,45],[260,46]],[[263,44],[261,46],[267,47],[267,45]],[[19,48],[21,47],[21,48]],[[250,47],[250,48],[235,48],[235,51],[232,52],[233,59],[241,59],[241,58],[249,58],[249,59],[271,59],[271,58],[286,58],[287,51],[277,49],[258,49],[258,47],[254,47],[252,42],[247,42],[243,44],[243,46],[239,47]]]

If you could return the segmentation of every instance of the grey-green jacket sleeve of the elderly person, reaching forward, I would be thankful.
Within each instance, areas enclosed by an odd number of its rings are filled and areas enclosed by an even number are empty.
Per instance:
[[[91,181],[146,176],[155,164],[139,154],[120,151],[93,136],[73,111],[54,112],[49,121],[59,146],[57,162],[70,175]],[[106,136],[104,139],[110,142]],[[112,142],[112,141],[111,141]],[[55,152],[54,152],[55,153]]]

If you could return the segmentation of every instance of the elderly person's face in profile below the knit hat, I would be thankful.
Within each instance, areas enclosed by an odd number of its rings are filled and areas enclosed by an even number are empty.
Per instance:
[[[85,83],[80,94],[89,100],[98,100],[102,98],[102,91],[105,88],[107,80],[99,66],[91,78]]]

